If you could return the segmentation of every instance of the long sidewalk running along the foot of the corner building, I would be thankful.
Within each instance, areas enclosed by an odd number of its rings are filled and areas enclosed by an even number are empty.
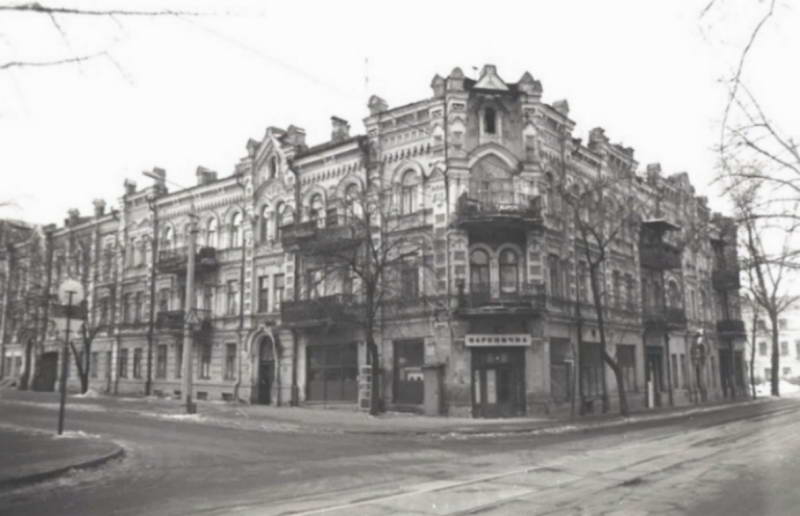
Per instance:
[[[0,391],[0,401],[34,403],[55,408],[54,393]],[[51,399],[52,398],[52,399]],[[171,421],[211,424],[246,430],[272,432],[363,433],[387,435],[436,435],[443,437],[494,436],[512,433],[563,433],[595,428],[621,426],[629,423],[660,421],[691,414],[723,410],[744,403],[758,403],[771,398],[713,402],[704,405],[643,409],[627,418],[616,413],[588,415],[571,419],[569,414],[509,419],[472,419],[431,417],[418,414],[387,412],[370,416],[355,408],[275,407],[245,405],[216,401],[200,401],[196,414],[186,414],[179,401],[161,398],[118,396],[70,396],[67,410],[109,410],[133,413]]]

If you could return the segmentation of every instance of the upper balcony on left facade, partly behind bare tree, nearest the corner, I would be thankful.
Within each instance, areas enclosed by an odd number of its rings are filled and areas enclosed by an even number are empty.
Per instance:
[[[328,224],[308,220],[281,227],[281,244],[302,253],[335,252],[357,246],[364,238],[363,228],[353,224]]]

